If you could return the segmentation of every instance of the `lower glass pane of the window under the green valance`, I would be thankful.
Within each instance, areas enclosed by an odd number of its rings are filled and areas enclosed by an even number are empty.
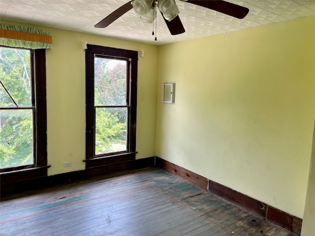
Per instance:
[[[32,109],[0,110],[0,168],[33,164]]]

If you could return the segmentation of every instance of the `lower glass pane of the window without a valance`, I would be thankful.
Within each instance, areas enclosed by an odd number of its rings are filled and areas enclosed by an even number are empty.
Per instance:
[[[95,154],[126,150],[127,108],[96,108],[95,112]]]

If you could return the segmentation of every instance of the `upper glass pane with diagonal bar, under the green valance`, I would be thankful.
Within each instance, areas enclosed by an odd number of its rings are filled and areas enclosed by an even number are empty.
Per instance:
[[[32,106],[30,50],[0,47],[0,57],[1,83],[19,106]],[[15,106],[3,87],[0,106]]]

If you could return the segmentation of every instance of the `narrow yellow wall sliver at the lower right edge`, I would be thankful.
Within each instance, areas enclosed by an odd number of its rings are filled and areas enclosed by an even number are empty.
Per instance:
[[[313,236],[315,232],[315,127],[310,166],[309,183],[307,187],[304,218],[301,236]]]

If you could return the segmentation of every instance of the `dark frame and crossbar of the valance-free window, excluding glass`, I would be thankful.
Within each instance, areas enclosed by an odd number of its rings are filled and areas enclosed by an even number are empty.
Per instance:
[[[126,79],[126,105],[105,105],[94,104],[94,59],[95,57],[108,59],[124,59],[127,62]],[[137,86],[137,59],[135,51],[87,45],[86,49],[86,160],[99,159],[101,157],[113,157],[122,154],[135,153],[135,122],[136,122],[136,86]],[[132,70],[131,70],[132,68]],[[95,109],[110,107],[126,107],[128,109],[127,120],[127,150],[95,155]]]

